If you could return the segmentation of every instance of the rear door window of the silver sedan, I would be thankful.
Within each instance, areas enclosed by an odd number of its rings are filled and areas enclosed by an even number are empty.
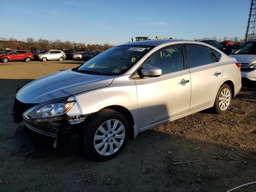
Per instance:
[[[200,45],[186,45],[190,67],[212,63],[212,55],[208,47]]]

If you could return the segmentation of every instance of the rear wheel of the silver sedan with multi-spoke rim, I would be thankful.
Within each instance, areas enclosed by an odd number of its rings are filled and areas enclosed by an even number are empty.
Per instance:
[[[214,108],[218,114],[224,114],[228,111],[232,98],[230,86],[222,84],[214,102]]]

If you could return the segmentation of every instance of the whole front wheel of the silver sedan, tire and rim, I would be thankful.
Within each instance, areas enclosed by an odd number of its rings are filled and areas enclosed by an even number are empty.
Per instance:
[[[117,156],[129,136],[126,118],[110,109],[103,109],[88,117],[83,128],[83,147],[88,156],[106,161]]]

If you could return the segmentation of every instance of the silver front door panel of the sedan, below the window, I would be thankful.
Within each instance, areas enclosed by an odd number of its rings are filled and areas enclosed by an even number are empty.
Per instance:
[[[190,80],[188,69],[159,77],[135,79],[140,128],[189,112]]]

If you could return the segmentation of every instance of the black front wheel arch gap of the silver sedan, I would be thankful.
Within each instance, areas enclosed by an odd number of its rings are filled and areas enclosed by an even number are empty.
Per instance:
[[[104,107],[104,109],[112,109],[121,113],[128,121],[130,139],[134,139],[134,118],[132,116],[132,113],[127,108],[120,105],[111,105],[111,106]]]

